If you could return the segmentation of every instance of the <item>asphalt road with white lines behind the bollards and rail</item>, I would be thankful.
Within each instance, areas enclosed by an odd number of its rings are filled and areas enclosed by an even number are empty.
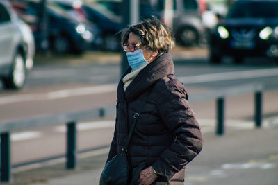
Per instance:
[[[186,80],[189,97],[190,94],[233,85],[263,82],[272,86],[273,82],[278,82],[278,68],[272,60],[248,59],[244,64],[234,65],[227,58],[223,64],[212,65],[208,64],[207,51],[204,49],[184,49],[174,51],[172,55],[175,74]],[[0,90],[1,121],[115,105],[117,80],[120,78],[119,55],[102,58],[101,55],[88,53],[81,58],[42,59],[44,58],[38,60],[33,71],[28,74],[24,89]],[[278,116],[277,92],[269,91],[263,96],[266,118]],[[253,99],[252,94],[227,98],[226,116],[229,127],[253,127]],[[213,134],[215,100],[192,103],[191,106],[203,132]],[[100,123],[106,127],[99,126],[99,121],[81,123],[78,135],[79,150],[108,146],[113,132],[113,119],[101,120]],[[13,164],[60,155],[65,152],[65,127],[23,130],[13,133],[12,141]],[[214,147],[213,144],[211,147]],[[236,160],[231,159],[232,162]],[[202,164],[198,165],[202,168]],[[220,168],[219,166],[215,166],[215,169]],[[214,166],[209,164],[208,168],[214,169]]]

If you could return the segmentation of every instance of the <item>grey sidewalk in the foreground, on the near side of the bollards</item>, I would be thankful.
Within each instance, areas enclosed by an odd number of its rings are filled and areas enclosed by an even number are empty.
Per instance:
[[[277,119],[269,121],[261,129],[227,125],[227,133],[224,136],[215,136],[211,131],[205,132],[202,152],[188,164],[186,184],[277,183],[277,122]],[[205,127],[209,126],[202,127],[206,130]],[[99,184],[99,175],[107,152],[108,148],[105,148],[98,153],[92,153],[94,156],[79,159],[76,170],[65,170],[65,164],[62,163],[13,173],[14,182],[10,184]]]

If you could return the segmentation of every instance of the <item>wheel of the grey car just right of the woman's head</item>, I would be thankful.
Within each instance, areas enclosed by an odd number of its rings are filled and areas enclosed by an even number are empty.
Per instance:
[[[199,35],[194,28],[186,27],[179,31],[178,39],[183,46],[193,46],[197,44]]]

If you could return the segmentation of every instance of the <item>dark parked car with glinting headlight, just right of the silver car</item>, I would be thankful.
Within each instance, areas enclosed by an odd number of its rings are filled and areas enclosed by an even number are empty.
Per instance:
[[[25,19],[33,28],[35,41],[38,49],[42,48],[42,26],[40,24],[40,3],[25,1],[24,12],[19,15],[24,19],[33,16],[33,22]],[[63,10],[54,3],[47,1],[47,41],[54,53],[76,53],[81,54],[91,49],[92,46],[101,45],[101,30],[86,20],[79,19],[78,16]],[[26,16],[28,15],[28,16]]]

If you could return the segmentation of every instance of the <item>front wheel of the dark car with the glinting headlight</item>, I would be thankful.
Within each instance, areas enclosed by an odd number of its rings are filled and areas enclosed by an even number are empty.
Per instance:
[[[70,52],[70,40],[63,36],[55,37],[53,42],[53,50],[58,54]]]

